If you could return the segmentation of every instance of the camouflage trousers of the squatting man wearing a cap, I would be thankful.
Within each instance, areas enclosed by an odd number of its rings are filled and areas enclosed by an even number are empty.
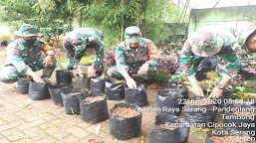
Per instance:
[[[137,71],[140,69],[140,67],[137,67],[137,68],[128,68],[128,74],[129,75],[132,75],[132,74],[137,74]],[[148,71],[145,73],[145,74],[141,74],[139,75],[140,77],[144,78],[144,79],[147,79],[148,78],[148,75],[152,74],[154,71],[156,71],[155,68],[149,68]],[[124,78],[123,75],[119,72],[117,66],[114,66],[112,68],[110,68],[108,70],[108,74],[112,77],[115,77],[115,78]]]

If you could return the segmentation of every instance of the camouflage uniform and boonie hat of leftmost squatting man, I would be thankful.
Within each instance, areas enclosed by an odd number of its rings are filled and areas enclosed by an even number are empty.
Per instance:
[[[34,36],[33,34],[36,35],[35,27],[31,25],[21,26],[20,31],[22,34],[16,35],[21,37]],[[27,35],[26,32],[28,32]],[[45,77],[50,77],[56,68],[56,60],[53,58],[52,65],[46,68],[45,64],[43,64],[44,58],[41,57],[42,51],[45,52],[46,55],[54,56],[54,50],[40,39],[37,39],[33,46],[23,44],[21,39],[10,43],[6,49],[7,61],[3,70],[0,72],[0,80],[7,83],[14,82],[17,80],[18,75],[24,75],[28,70],[39,71],[41,69],[50,71],[50,73],[45,75]]]

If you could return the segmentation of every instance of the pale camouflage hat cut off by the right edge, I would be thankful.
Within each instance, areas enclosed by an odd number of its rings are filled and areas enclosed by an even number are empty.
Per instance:
[[[242,49],[248,49],[246,46],[246,41],[254,32],[256,32],[256,26],[253,29],[249,27],[244,28],[239,32],[238,44],[242,46]]]

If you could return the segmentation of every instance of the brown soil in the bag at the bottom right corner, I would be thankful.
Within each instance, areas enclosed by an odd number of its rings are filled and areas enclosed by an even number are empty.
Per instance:
[[[211,139],[215,142],[215,143],[249,143],[249,141],[233,141],[233,139],[240,139],[243,136],[239,136],[239,135],[235,135],[235,136],[212,136]]]

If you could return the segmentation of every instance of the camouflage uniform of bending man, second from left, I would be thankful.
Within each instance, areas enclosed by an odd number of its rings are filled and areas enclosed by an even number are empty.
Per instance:
[[[68,33],[63,39],[64,51],[69,59],[69,68],[78,69],[87,45],[93,45],[95,60],[92,65],[96,71],[104,71],[104,33],[94,28],[80,28]]]

